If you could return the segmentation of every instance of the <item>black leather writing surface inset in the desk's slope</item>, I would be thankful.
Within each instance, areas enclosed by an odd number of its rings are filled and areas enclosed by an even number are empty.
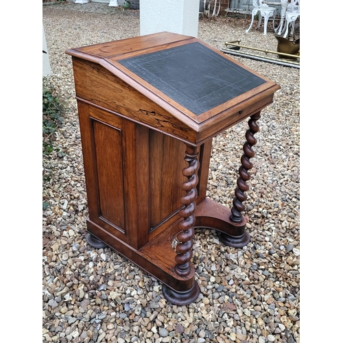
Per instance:
[[[119,63],[195,115],[265,82],[200,43],[135,56]]]

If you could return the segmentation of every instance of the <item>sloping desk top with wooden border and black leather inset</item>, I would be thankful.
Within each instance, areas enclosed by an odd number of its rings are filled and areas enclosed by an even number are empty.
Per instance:
[[[197,132],[280,88],[197,38],[169,32],[66,52],[101,64]]]

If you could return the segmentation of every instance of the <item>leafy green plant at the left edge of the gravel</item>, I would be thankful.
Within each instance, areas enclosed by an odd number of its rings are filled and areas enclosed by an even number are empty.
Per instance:
[[[53,95],[51,86],[43,79],[43,154],[54,150],[54,132],[62,123],[62,104]]]

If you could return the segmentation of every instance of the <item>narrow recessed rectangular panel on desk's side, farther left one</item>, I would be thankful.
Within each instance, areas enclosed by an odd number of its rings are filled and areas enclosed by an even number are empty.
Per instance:
[[[100,215],[125,230],[121,131],[93,121]]]

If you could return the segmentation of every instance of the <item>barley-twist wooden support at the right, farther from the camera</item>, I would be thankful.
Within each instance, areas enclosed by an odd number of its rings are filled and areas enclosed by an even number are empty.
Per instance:
[[[252,146],[257,143],[254,134],[259,132],[257,121],[260,118],[260,113],[256,113],[250,117],[248,121],[249,129],[246,131],[246,143],[243,145],[244,154],[241,156],[241,167],[239,167],[239,178],[237,179],[237,187],[235,189],[235,198],[233,198],[233,208],[231,209],[230,220],[235,223],[242,221],[241,211],[246,209],[243,202],[247,199],[245,191],[248,191],[249,186],[246,181],[250,180],[248,170],[252,168],[250,158],[255,156]]]

